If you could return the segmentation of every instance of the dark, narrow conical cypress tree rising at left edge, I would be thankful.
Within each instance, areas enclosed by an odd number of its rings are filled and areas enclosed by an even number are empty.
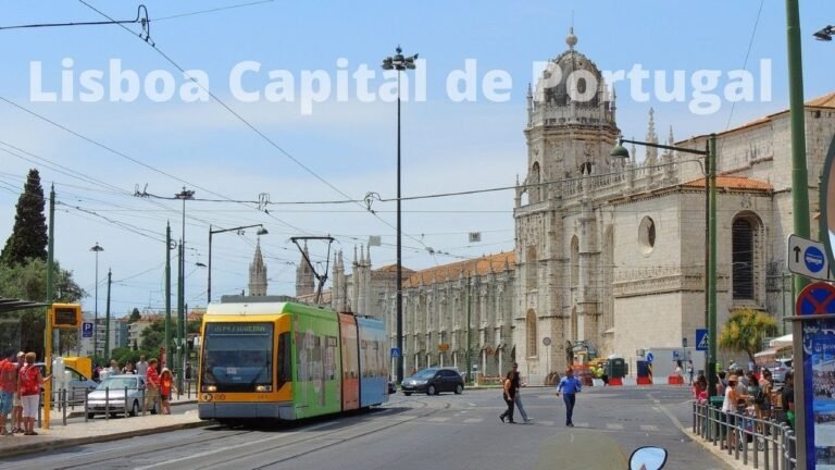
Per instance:
[[[40,174],[33,169],[29,170],[23,194],[17,199],[14,228],[0,252],[0,263],[11,267],[26,264],[28,260],[47,259],[48,235],[43,207],[45,199],[43,188],[40,186]]]

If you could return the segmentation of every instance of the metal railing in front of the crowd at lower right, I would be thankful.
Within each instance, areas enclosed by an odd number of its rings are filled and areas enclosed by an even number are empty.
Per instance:
[[[723,412],[707,403],[693,403],[693,432],[720,446],[735,460],[755,469],[794,470],[796,435],[788,424],[773,418],[759,419],[749,412]],[[777,416],[780,410],[772,410]]]

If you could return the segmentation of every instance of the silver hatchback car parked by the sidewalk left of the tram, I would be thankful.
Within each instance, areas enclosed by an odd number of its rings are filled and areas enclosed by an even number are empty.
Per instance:
[[[110,413],[137,416],[142,412],[145,378],[134,374],[111,375],[87,395],[87,418]],[[159,411],[159,403],[150,412]]]

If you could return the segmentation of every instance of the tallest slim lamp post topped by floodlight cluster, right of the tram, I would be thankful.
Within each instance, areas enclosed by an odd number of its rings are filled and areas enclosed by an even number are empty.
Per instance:
[[[403,57],[400,46],[395,49],[394,57],[383,59],[383,70],[397,71],[397,382],[403,381],[403,265],[402,265],[402,232],[400,212],[400,72],[414,70],[418,54]]]

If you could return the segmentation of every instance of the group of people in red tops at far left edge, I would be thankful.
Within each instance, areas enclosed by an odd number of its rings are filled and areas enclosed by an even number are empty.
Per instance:
[[[35,364],[35,352],[7,349],[0,358],[0,435],[37,435],[35,418],[40,406],[40,385],[52,375],[43,376]],[[5,422],[11,413],[12,429]]]

